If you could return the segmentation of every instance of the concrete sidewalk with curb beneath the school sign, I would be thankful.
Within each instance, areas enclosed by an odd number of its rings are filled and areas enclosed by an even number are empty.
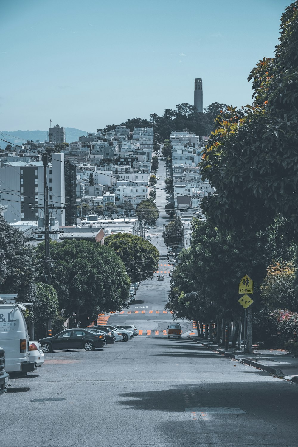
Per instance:
[[[260,368],[270,374],[277,375],[285,380],[291,380],[298,384],[298,358],[292,357],[285,350],[281,349],[255,349],[253,354],[243,354],[242,350],[229,349],[224,350],[222,346],[216,343],[203,340],[201,337],[188,336],[193,342],[199,343],[206,348],[216,351],[226,357],[235,358],[242,363]]]

